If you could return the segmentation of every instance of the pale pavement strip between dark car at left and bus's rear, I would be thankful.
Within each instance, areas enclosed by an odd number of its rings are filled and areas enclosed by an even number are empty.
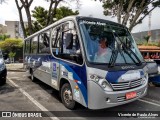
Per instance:
[[[17,71],[17,72],[25,72],[23,69],[23,63],[11,63],[6,64],[8,71]]]

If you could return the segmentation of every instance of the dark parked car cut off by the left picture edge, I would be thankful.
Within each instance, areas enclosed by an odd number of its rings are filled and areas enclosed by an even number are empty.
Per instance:
[[[0,50],[0,85],[3,85],[6,83],[6,77],[7,77],[7,69],[4,62],[5,56],[3,57],[2,52]]]

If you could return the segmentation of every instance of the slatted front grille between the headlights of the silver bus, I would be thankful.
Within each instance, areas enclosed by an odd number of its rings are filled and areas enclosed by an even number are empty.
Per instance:
[[[118,90],[126,90],[126,89],[131,89],[131,88],[141,86],[142,85],[141,83],[142,83],[142,79],[133,80],[129,82],[110,83],[110,84],[113,90],[118,91]]]

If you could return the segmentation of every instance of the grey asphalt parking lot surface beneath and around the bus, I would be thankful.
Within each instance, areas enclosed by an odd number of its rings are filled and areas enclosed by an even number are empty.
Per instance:
[[[68,110],[61,103],[59,93],[50,86],[42,83],[41,81],[32,82],[27,72],[9,72],[7,84],[0,86],[0,111],[35,111],[42,112],[42,115],[50,117],[30,118],[31,120],[41,119],[126,119],[123,117],[112,117],[118,115],[123,111],[135,111],[138,114],[151,111],[160,111],[160,87],[150,86],[147,96],[143,99],[136,100],[132,103],[103,109],[103,110],[88,110],[87,108],[78,105],[76,110]],[[118,112],[117,112],[118,111]],[[133,113],[133,112],[131,112]],[[159,112],[160,113],[160,112]],[[100,117],[101,115],[110,117]],[[92,117],[93,116],[93,117]],[[160,116],[160,114],[159,114]],[[13,119],[13,118],[0,118],[0,119]],[[15,119],[15,118],[14,118]],[[16,119],[28,118],[21,117]],[[136,119],[128,117],[127,119]],[[145,118],[144,118],[145,119]],[[159,119],[150,118],[150,119]]]

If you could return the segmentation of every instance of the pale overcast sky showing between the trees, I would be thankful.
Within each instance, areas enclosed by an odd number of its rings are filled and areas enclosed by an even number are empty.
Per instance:
[[[79,9],[77,8],[76,3],[74,2],[63,3],[63,4],[60,4],[60,6],[66,5],[72,8],[73,10],[79,10],[79,13],[80,13],[79,15],[82,15],[82,16],[92,16],[92,17],[103,18],[106,20],[117,22],[116,18],[103,15],[102,3],[99,1],[95,2],[94,0],[81,0],[80,4],[81,6]],[[35,6],[42,6],[48,9],[49,3],[45,2],[45,0],[34,0],[31,5],[31,10],[33,10]],[[26,15],[24,11],[23,11],[23,16],[24,16],[24,20],[26,20]],[[160,8],[156,8],[152,12],[151,30],[160,29],[159,19],[160,19]],[[10,20],[10,21],[19,20],[19,15],[16,8],[15,0],[7,0],[7,3],[3,3],[2,5],[0,4],[0,24],[5,24],[5,20]],[[137,25],[136,27],[133,28],[132,32],[134,33],[134,32],[147,31],[149,29],[148,23],[149,23],[149,20],[148,20],[148,17],[146,17],[143,20],[142,24]]]

